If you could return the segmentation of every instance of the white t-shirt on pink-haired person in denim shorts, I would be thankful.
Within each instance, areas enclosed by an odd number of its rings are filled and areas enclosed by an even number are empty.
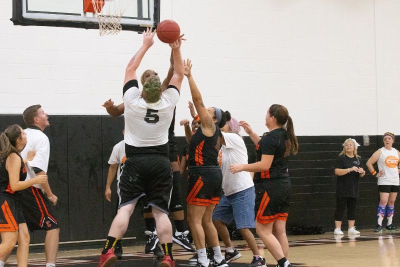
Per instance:
[[[243,139],[236,133],[222,132],[226,145],[222,145],[218,154],[221,163],[222,188],[225,195],[230,195],[254,185],[250,173],[241,171],[232,174],[229,166],[235,163],[247,164],[247,149]]]

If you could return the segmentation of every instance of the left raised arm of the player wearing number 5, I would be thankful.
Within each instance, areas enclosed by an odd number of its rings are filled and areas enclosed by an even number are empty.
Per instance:
[[[143,44],[127,64],[125,69],[125,79],[123,81],[123,84],[125,84],[127,81],[131,79],[137,79],[136,69],[139,67],[141,59],[143,59],[143,56],[148,50],[148,48],[150,48],[151,45],[153,45],[154,43],[153,37],[155,34],[155,30],[153,32],[151,32],[151,30],[152,27],[147,28],[145,31],[143,31]]]

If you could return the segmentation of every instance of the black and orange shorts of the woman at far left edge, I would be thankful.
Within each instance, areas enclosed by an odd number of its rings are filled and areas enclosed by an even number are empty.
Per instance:
[[[20,201],[16,197],[0,194],[0,205],[0,232],[18,230],[18,224],[25,222]]]

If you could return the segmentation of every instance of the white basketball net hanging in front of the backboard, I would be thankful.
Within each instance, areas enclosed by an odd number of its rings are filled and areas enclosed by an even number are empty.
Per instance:
[[[129,0],[91,0],[98,19],[100,36],[117,34],[121,30],[121,16]]]

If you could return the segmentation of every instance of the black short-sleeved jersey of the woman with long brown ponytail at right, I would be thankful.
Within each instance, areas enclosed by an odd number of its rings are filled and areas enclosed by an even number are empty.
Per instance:
[[[255,146],[255,161],[261,161],[263,154],[273,155],[273,159],[268,170],[254,173],[254,181],[288,177],[287,162],[290,147],[291,142],[284,128],[277,128],[265,133]]]

